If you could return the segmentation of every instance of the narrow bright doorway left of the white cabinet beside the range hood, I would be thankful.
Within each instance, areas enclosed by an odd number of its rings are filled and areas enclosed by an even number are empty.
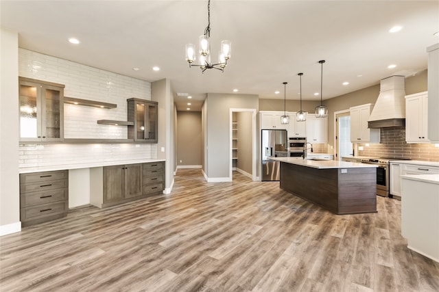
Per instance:
[[[352,155],[351,114],[348,110],[335,112],[335,160]]]

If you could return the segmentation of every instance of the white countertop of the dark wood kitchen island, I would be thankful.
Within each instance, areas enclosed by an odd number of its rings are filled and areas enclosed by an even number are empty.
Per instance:
[[[308,168],[330,169],[330,168],[377,168],[375,164],[355,163],[338,160],[307,160],[294,157],[274,157],[271,160],[307,166]]]

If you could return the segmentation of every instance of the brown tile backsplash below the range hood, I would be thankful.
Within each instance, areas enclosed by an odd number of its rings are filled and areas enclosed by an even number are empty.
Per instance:
[[[410,158],[420,161],[439,162],[439,147],[434,144],[407,144],[405,142],[405,127],[381,129],[379,144],[361,144],[364,150],[358,151],[358,156]]]

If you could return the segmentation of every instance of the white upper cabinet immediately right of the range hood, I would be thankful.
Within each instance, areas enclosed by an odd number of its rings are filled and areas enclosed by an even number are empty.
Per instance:
[[[416,144],[429,143],[427,124],[428,92],[405,96],[405,141]]]

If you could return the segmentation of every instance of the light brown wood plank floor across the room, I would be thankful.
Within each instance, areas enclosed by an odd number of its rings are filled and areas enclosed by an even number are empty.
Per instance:
[[[333,215],[277,182],[178,170],[170,195],[1,237],[0,291],[439,291],[439,264],[401,237],[401,202],[377,204]]]

